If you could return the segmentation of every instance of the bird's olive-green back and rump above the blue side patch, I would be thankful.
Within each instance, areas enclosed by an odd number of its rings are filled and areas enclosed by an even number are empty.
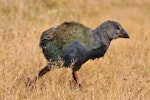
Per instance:
[[[87,49],[92,49],[94,46],[92,29],[77,22],[64,22],[43,32],[40,46],[43,49],[46,46],[48,49],[45,53],[48,59],[57,60],[57,57],[63,57],[69,47],[76,41]]]

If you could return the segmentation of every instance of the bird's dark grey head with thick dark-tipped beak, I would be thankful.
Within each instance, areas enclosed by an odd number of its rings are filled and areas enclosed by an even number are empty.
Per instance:
[[[128,33],[118,22],[108,20],[104,22],[102,26],[111,40],[117,38],[129,38]]]

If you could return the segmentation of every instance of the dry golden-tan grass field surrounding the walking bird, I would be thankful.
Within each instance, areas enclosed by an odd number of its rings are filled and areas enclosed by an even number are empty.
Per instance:
[[[149,0],[0,0],[0,100],[149,100],[149,9]],[[44,30],[70,20],[95,28],[108,19],[131,38],[82,66],[84,89],[69,68],[54,68],[32,91],[25,86],[46,65],[38,46]]]

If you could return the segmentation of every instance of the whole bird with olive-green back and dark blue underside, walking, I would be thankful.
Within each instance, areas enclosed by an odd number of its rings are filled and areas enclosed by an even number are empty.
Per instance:
[[[63,58],[64,66],[72,60],[73,78],[80,84],[77,71],[89,59],[103,57],[110,42],[117,38],[129,38],[123,27],[115,21],[106,21],[96,29],[88,28],[77,22],[64,22],[43,32],[40,47],[48,61]],[[39,72],[39,78],[51,70],[48,64]]]

